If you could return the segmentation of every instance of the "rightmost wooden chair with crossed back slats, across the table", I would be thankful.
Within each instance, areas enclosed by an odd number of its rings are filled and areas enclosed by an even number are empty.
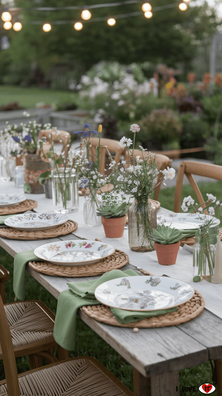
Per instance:
[[[184,174],[188,178],[197,200],[199,204],[203,204],[206,201],[202,197],[202,194],[197,186],[197,183],[194,180],[192,175],[199,175],[205,177],[211,177],[211,179],[222,180],[222,166],[214,165],[214,164],[205,164],[204,162],[195,162],[195,161],[183,161],[180,162],[178,175],[176,179],[176,189],[175,189],[175,200],[174,200],[174,211],[180,212],[180,204],[181,204],[181,193],[183,186],[183,178]],[[203,205],[203,208],[205,205]]]

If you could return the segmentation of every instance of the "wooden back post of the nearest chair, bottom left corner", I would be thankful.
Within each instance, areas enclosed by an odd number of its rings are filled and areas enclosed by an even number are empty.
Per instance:
[[[15,363],[14,348],[11,339],[8,319],[2,297],[0,296],[0,343],[2,347],[2,357],[6,374],[8,396],[20,396],[19,381]]]

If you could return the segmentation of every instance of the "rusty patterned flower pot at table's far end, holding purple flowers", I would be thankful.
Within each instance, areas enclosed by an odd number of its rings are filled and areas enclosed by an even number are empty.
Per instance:
[[[24,184],[30,185],[31,194],[43,194],[44,188],[40,185],[38,178],[41,173],[51,169],[50,165],[42,161],[40,155],[37,154],[25,154],[24,164]]]

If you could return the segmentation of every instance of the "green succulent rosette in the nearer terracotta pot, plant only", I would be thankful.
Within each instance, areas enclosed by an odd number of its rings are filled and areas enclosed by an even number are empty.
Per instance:
[[[158,224],[157,230],[153,228],[151,238],[157,244],[171,245],[183,238],[183,231],[184,230],[177,230],[176,228],[171,228],[164,224],[161,226]]]

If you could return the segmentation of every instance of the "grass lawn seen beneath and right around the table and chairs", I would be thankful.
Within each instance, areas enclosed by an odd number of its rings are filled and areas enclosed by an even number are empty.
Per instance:
[[[219,200],[222,198],[222,182],[198,183],[199,188],[205,198],[206,193],[211,193]],[[173,210],[175,187],[165,188],[160,191],[159,201],[162,206]],[[183,187],[184,196],[194,196],[192,187],[185,185]],[[216,217],[222,219],[222,213],[216,213]],[[10,279],[5,284],[7,303],[14,301],[13,293],[13,258],[0,247],[0,263],[10,272]],[[54,313],[56,312],[57,300],[32,276],[26,273],[26,299],[38,299],[43,301]],[[106,366],[116,377],[126,386],[133,390],[133,370],[130,364],[120,360],[120,355],[111,346],[109,346],[101,337],[99,337],[90,327],[77,318],[76,329],[76,350],[70,351],[71,356],[93,356]],[[17,358],[17,369],[21,373],[30,369],[28,358]],[[0,380],[4,378],[3,363],[0,362]],[[191,367],[180,371],[180,395],[181,396],[199,396],[198,387],[203,383],[212,382],[211,364],[207,362],[200,366]],[[216,385],[216,384],[214,384]],[[196,392],[182,392],[182,386],[196,386]],[[215,393],[216,394],[216,393]]]

